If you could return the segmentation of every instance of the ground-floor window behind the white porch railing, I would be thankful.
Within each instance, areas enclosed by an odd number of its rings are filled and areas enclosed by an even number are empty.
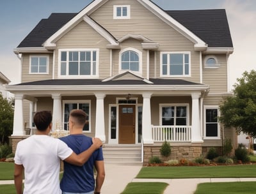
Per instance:
[[[160,105],[162,125],[186,126],[188,124],[188,105]]]

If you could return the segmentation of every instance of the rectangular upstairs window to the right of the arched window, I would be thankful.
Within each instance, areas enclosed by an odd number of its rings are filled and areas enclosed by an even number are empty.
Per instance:
[[[190,52],[161,52],[162,77],[189,76],[190,69]]]

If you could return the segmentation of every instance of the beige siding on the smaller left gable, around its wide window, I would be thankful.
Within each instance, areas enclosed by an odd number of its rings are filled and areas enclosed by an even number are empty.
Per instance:
[[[57,41],[55,59],[55,77],[58,77],[58,49],[60,48],[99,48],[99,78],[109,77],[109,42],[86,22],[81,21],[65,36]]]

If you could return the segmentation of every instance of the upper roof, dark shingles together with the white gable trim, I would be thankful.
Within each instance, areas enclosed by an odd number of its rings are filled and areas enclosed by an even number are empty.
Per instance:
[[[79,13],[52,13],[48,19],[41,20],[17,48],[42,48],[44,44],[45,46],[51,46],[52,41],[58,40],[58,37],[62,36],[74,24],[81,20],[90,20],[89,17],[84,19],[84,16],[89,15],[107,1],[95,0]],[[205,43],[209,47],[232,47],[225,10],[164,11],[151,1],[138,0],[138,2],[195,42],[198,48],[207,47]],[[100,28],[95,21],[90,21],[91,25]],[[104,34],[107,34],[109,40],[111,40],[110,33]],[[113,38],[113,41],[115,41],[115,38]]]

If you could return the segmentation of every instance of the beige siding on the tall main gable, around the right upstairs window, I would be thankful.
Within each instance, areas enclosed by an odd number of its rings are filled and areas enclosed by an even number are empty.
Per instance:
[[[200,82],[199,53],[194,52],[194,45],[191,41],[172,27],[168,26],[152,12],[148,11],[144,6],[138,3],[138,1],[122,1],[122,4],[131,5],[131,19],[114,20],[113,5],[116,4],[120,4],[120,1],[108,1],[98,10],[93,12],[90,17],[113,34],[116,39],[122,38],[126,34],[141,34],[150,40],[159,43],[159,50],[157,52],[157,77],[160,76],[160,51],[190,51],[191,60],[193,61],[191,64],[191,77],[186,77],[184,79]],[[135,45],[132,43],[129,45],[129,47],[133,46]],[[141,46],[140,50],[142,50]],[[118,62],[114,61],[113,63]],[[145,65],[143,64],[143,67],[144,66]],[[145,70],[145,68],[143,68],[143,70]],[[143,75],[145,75],[145,72],[143,72]],[[152,61],[150,61],[150,75],[154,75],[154,65],[152,65]]]

